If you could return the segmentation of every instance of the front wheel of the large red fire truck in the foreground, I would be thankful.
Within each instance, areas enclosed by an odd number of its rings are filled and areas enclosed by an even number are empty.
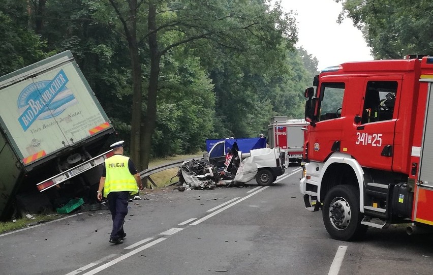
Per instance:
[[[329,235],[337,240],[361,237],[368,226],[361,225],[358,189],[350,185],[333,187],[325,197],[323,223]]]

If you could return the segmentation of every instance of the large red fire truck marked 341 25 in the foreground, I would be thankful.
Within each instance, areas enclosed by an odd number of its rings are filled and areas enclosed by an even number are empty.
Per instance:
[[[396,223],[431,230],[433,57],[345,63],[313,86],[300,192],[317,197],[330,236]]]

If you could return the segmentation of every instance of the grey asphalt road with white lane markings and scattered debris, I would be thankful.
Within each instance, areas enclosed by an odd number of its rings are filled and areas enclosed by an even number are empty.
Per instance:
[[[432,274],[433,239],[369,228],[333,240],[304,209],[299,167],[271,187],[166,189],[130,202],[123,245],[108,210],[0,235],[0,274]]]

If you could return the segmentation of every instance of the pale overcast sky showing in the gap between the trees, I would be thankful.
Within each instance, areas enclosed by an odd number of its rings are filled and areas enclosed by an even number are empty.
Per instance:
[[[361,31],[345,19],[336,23],[340,3],[333,0],[283,0],[285,11],[297,12],[298,44],[319,60],[319,71],[348,61],[373,60]]]

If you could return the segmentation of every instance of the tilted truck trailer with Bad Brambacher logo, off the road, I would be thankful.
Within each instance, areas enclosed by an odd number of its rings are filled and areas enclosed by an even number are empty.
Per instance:
[[[0,77],[0,130],[1,220],[19,198],[90,196],[114,132],[69,50]]]

